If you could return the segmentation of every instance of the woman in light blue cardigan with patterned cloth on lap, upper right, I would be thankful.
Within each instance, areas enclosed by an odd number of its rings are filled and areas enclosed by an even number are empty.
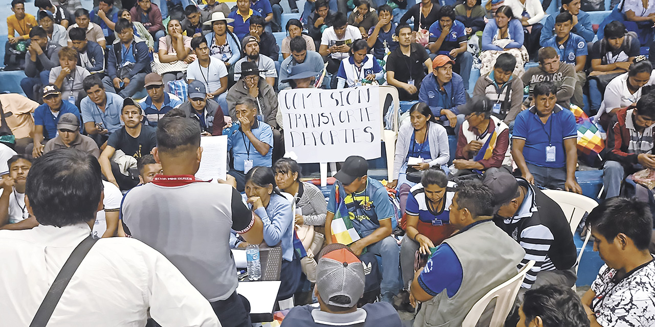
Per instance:
[[[510,39],[512,42],[501,48],[494,41]],[[523,26],[521,21],[514,18],[514,12],[509,6],[500,6],[496,10],[493,20],[489,20],[482,32],[482,51],[508,50],[523,46]]]

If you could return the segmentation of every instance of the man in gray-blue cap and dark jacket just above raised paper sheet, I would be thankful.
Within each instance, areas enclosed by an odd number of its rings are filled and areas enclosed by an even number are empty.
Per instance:
[[[189,99],[179,105],[178,109],[200,124],[200,135],[223,135],[225,117],[221,106],[213,99],[207,99],[207,90],[200,80],[189,84]]]

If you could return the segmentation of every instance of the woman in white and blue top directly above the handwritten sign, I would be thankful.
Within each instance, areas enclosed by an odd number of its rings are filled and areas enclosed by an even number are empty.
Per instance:
[[[377,59],[369,54],[366,40],[359,39],[352,44],[350,56],[341,60],[337,71],[337,88],[352,88],[371,84],[384,77],[384,71]]]

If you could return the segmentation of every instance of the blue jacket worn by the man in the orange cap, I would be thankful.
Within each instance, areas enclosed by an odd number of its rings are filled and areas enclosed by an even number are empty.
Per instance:
[[[428,74],[428,76],[423,78],[423,81],[421,82],[419,101],[427,103],[428,107],[430,107],[430,111],[432,111],[432,114],[434,114],[441,124],[447,124],[448,118],[446,118],[445,114],[441,114],[441,109],[448,109],[454,114],[459,114],[457,107],[466,103],[464,80],[462,80],[462,77],[457,75],[457,73],[453,73],[451,81],[443,84],[443,89],[451,101],[451,106],[449,108],[444,108],[438,105],[438,89],[439,83],[437,82],[434,73]]]

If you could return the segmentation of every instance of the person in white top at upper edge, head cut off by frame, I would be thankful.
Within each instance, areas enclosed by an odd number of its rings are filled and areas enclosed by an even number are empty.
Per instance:
[[[639,1],[639,0],[637,0]],[[536,58],[536,52],[541,47],[539,39],[541,29],[544,27],[539,22],[546,16],[539,0],[505,0],[505,5],[512,8],[514,18],[519,20],[525,33],[525,48],[530,58]]]

